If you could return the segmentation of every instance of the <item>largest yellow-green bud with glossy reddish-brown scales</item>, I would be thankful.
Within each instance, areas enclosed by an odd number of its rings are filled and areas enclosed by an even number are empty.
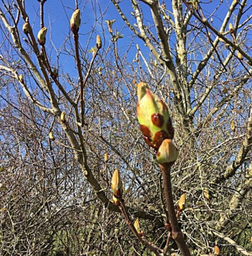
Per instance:
[[[174,130],[166,104],[148,90],[145,83],[138,84],[138,122],[145,142],[159,149],[165,139],[173,139]]]

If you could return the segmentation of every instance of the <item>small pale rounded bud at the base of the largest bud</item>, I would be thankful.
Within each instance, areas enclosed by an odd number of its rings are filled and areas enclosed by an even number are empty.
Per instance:
[[[178,158],[178,149],[170,139],[162,141],[157,150],[157,161],[161,164],[173,164]]]

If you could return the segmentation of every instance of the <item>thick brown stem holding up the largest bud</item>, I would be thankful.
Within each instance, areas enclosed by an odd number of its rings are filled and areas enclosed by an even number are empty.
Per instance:
[[[171,164],[159,164],[159,168],[162,171],[162,178],[164,182],[164,196],[166,198],[166,207],[169,215],[169,222],[171,224],[171,237],[177,243],[177,246],[182,252],[183,256],[191,256],[183,233],[178,225],[178,220],[173,204],[173,194],[171,190]]]

